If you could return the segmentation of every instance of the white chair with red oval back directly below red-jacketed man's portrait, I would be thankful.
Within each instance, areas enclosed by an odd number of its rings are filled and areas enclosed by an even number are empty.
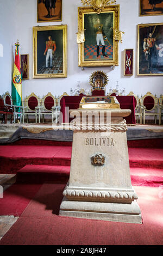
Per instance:
[[[59,106],[57,106],[57,99],[51,93],[48,93],[41,99],[41,106],[39,108],[39,123],[45,123],[45,115],[51,115],[52,123],[57,123],[59,118]],[[55,122],[54,122],[55,120]]]

